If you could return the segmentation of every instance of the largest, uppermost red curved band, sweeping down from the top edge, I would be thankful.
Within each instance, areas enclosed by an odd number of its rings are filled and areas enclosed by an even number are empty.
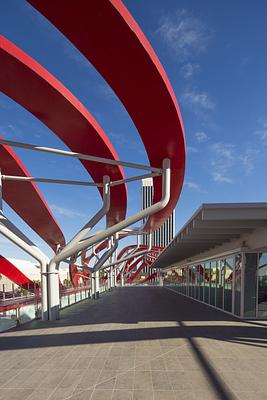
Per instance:
[[[28,0],[87,57],[118,95],[145,145],[149,161],[171,160],[171,198],[150,217],[158,228],[178,201],[185,171],[185,138],[179,107],[150,43],[120,0]],[[161,179],[154,178],[154,202]]]

